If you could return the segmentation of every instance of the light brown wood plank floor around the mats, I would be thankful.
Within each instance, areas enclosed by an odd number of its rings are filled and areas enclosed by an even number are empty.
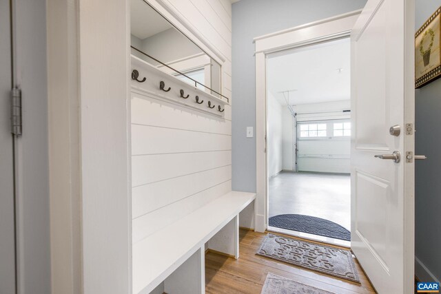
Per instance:
[[[375,293],[357,262],[361,285],[256,255],[265,235],[240,229],[240,258],[238,260],[212,252],[207,253],[205,255],[205,291],[213,294],[260,294],[267,273],[274,273],[337,294]]]

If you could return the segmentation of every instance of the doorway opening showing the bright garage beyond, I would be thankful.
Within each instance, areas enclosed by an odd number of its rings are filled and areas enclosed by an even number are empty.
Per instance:
[[[267,54],[269,231],[350,246],[349,38]]]

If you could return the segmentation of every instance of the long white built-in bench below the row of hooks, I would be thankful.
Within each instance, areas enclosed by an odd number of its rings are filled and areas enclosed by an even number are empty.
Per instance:
[[[205,293],[207,249],[239,257],[239,213],[255,193],[231,191],[134,244],[133,293]]]

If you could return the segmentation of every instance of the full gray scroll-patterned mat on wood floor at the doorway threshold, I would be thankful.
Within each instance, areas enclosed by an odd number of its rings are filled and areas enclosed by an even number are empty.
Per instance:
[[[256,254],[360,283],[349,249],[267,234]]]

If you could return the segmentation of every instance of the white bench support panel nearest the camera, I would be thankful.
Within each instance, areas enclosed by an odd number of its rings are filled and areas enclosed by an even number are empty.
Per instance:
[[[205,249],[200,248],[164,281],[165,293],[205,294]]]

